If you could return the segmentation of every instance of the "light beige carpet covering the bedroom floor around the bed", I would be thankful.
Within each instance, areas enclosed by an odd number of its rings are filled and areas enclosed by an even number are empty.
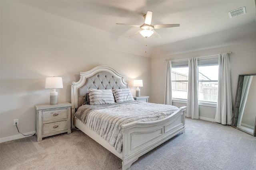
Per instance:
[[[122,161],[81,131],[0,144],[1,170],[120,170]],[[129,170],[256,170],[256,137],[186,119],[186,133],[141,156]]]

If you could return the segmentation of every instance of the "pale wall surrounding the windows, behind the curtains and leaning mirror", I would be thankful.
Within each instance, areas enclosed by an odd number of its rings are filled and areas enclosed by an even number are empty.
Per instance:
[[[203,57],[230,51],[232,51],[232,54],[230,55],[231,92],[232,103],[234,105],[238,75],[256,73],[256,41],[176,55],[165,54],[162,57],[159,56],[158,58],[153,58],[151,61],[151,96],[153,96],[151,97],[151,102],[164,103],[165,60]],[[176,103],[174,103],[174,106],[175,105]],[[202,119],[213,120],[215,111],[216,107],[200,106],[199,116]]]

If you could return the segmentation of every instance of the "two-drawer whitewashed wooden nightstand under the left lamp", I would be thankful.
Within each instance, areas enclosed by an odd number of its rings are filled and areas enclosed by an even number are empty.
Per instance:
[[[37,141],[43,137],[67,132],[71,133],[71,104],[64,102],[54,105],[39,104],[36,108]]]

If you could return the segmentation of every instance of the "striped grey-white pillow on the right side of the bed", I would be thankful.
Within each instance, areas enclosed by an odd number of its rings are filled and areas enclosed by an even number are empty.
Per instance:
[[[130,88],[112,89],[116,102],[134,101]]]

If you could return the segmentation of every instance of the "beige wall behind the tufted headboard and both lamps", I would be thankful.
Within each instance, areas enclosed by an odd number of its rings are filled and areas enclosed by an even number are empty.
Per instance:
[[[50,103],[48,76],[63,79],[59,102],[70,102],[79,72],[99,65],[125,74],[133,94],[132,80],[142,79],[141,95],[150,96],[151,59],[132,50],[140,44],[14,1],[1,1],[0,17],[0,142],[22,137],[14,119],[20,132],[34,133],[34,105]]]

